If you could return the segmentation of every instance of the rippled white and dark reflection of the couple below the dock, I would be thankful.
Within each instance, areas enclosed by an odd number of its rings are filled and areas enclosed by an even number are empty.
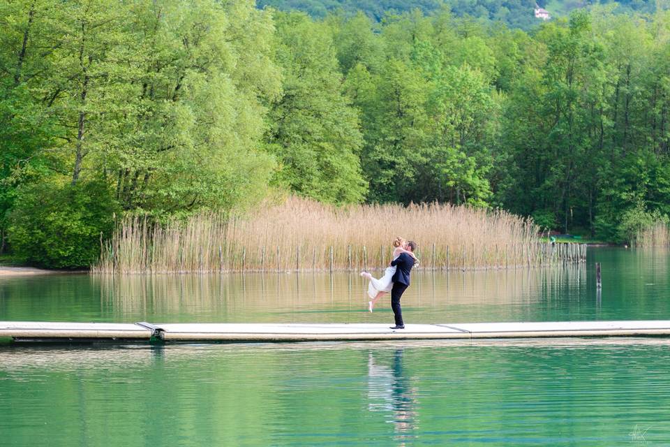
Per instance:
[[[417,428],[417,390],[403,374],[403,350],[396,349],[391,367],[380,361],[382,355],[368,354],[368,409],[387,413],[387,422],[394,426],[394,440],[404,445]]]

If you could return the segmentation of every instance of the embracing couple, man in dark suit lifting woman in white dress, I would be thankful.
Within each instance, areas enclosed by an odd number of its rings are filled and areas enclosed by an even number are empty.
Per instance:
[[[368,285],[368,296],[371,301],[368,301],[368,309],[372,312],[373,307],[377,304],[382,296],[391,292],[391,309],[396,319],[396,325],[391,329],[404,329],[403,312],[400,307],[400,298],[403,296],[405,290],[410,286],[410,271],[416,263],[419,262],[414,254],[417,249],[417,244],[414,241],[407,241],[402,237],[396,237],[393,241],[395,247],[393,251],[393,260],[389,267],[386,268],[384,276],[380,279],[375,279],[368,272],[361,272],[362,277],[370,280]]]

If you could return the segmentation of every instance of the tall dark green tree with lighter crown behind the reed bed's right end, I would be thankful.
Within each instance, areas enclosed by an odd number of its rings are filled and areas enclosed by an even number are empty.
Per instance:
[[[507,109],[507,145],[515,149],[520,181],[506,201],[523,214],[553,210],[565,232],[573,225],[593,230],[602,168],[597,133],[608,68],[590,29],[584,12],[574,13],[567,26],[545,27],[537,38],[546,47],[546,63],[526,71]]]

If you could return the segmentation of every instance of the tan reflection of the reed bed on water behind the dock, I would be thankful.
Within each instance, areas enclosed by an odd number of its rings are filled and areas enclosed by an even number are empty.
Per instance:
[[[403,296],[409,321],[528,319],[533,304],[569,295],[579,300],[583,268],[419,271]],[[389,319],[388,302],[366,312],[358,274],[92,275],[107,320],[156,322],[346,322]],[[530,306],[529,306],[530,305]],[[315,316],[315,314],[320,314]]]

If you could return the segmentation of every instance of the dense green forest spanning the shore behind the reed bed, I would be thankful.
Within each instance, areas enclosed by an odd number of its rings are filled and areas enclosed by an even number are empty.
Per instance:
[[[325,203],[500,207],[623,240],[670,214],[670,13],[533,33],[442,9],[0,1],[0,230],[89,265],[114,219]]]

